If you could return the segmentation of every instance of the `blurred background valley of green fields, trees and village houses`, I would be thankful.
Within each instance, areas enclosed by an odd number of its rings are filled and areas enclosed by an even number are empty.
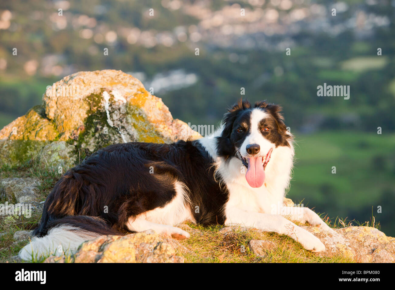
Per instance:
[[[395,0],[3,1],[0,128],[77,71],[130,73],[196,125],[266,99],[297,142],[288,197],[333,219],[374,215],[393,236],[394,20]],[[350,99],[318,96],[324,83]]]

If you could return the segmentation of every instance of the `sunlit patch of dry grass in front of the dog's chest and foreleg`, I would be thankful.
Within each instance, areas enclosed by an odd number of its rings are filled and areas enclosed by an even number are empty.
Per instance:
[[[190,263],[348,263],[352,260],[342,256],[321,257],[295,242],[292,238],[276,233],[253,230],[237,230],[224,234],[222,226],[203,227],[189,223],[191,237],[180,241],[185,248],[179,249],[185,262]],[[251,239],[273,241],[276,246],[260,257],[248,248]]]

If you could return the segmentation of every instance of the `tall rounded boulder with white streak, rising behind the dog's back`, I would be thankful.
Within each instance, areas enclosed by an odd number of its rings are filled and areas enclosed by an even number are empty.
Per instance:
[[[186,138],[181,131],[187,125],[173,120],[160,98],[122,71],[79,72],[55,86],[77,92],[70,96],[49,89],[43,95],[45,113],[62,133],[59,140],[75,140],[75,145],[81,143],[93,152],[113,143],[169,143]]]

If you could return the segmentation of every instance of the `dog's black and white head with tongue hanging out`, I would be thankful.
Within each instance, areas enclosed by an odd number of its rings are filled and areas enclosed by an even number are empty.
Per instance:
[[[236,157],[247,168],[245,177],[251,187],[261,187],[271,153],[278,146],[290,146],[292,135],[287,132],[281,107],[255,103],[254,107],[240,100],[224,115],[223,130],[217,137],[218,155],[229,161]]]

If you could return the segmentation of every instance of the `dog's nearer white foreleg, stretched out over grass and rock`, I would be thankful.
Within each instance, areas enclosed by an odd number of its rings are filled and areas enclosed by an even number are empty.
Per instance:
[[[254,211],[245,211],[238,208],[226,209],[226,226],[241,225],[246,227],[259,228],[265,232],[276,232],[290,236],[295,241],[301,243],[307,250],[313,252],[325,251],[325,246],[313,234],[304,230],[300,226],[288,221],[281,215],[272,215],[269,213],[258,213]]]

